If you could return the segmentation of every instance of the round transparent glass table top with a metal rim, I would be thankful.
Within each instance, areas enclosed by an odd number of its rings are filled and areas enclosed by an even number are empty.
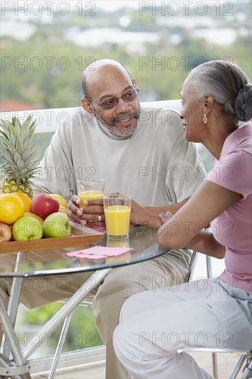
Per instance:
[[[133,250],[116,258],[109,257],[98,260],[65,256],[67,252],[86,249],[94,245],[131,247]],[[102,239],[96,240],[92,245],[85,247],[74,246],[0,254],[0,276],[2,278],[10,278],[14,276],[43,276],[96,271],[107,267],[119,267],[139,263],[161,256],[165,252],[167,252],[167,249],[162,249],[156,242],[156,230],[136,226],[131,227],[127,240],[111,240],[105,234]]]

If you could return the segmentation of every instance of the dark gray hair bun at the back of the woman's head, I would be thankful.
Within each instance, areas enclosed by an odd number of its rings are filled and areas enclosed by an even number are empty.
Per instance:
[[[252,117],[252,84],[247,83],[238,92],[234,102],[237,119],[249,121]]]

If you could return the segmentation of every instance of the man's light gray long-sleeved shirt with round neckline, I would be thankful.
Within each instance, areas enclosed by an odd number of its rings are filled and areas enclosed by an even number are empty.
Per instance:
[[[185,141],[178,112],[147,106],[141,107],[138,128],[128,139],[112,138],[95,117],[74,108],[57,128],[40,166],[34,189],[69,200],[78,178],[104,178],[105,194],[129,194],[142,206],[189,198],[204,172],[195,145]]]

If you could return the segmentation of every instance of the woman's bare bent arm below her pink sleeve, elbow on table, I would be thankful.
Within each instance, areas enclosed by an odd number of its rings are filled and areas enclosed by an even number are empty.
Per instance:
[[[204,181],[187,203],[160,227],[158,243],[169,249],[189,247],[222,258],[224,247],[211,233],[203,233],[202,230],[240,198],[242,195],[237,192]]]

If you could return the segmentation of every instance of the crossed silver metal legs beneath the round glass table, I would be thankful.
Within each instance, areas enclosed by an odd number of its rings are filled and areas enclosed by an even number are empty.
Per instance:
[[[22,253],[20,253],[22,254]],[[22,258],[22,256],[20,256]],[[56,371],[56,367],[59,362],[59,358],[61,355],[62,347],[64,345],[65,336],[67,334],[67,329],[70,324],[72,312],[78,306],[79,303],[94,289],[101,281],[109,274],[112,270],[111,267],[106,269],[97,270],[88,278],[85,283],[76,291],[76,293],[70,298],[65,305],[59,311],[52,316],[52,318],[44,325],[44,327],[39,331],[37,336],[33,338],[32,345],[28,344],[21,350],[19,345],[19,341],[17,340],[17,336],[14,332],[14,322],[17,317],[17,309],[19,306],[19,298],[22,287],[21,278],[14,278],[12,284],[12,298],[13,300],[8,307],[8,311],[13,312],[12,317],[8,315],[6,307],[3,303],[3,300],[0,296],[0,310],[1,310],[1,327],[3,329],[3,334],[5,334],[4,344],[2,346],[2,350],[5,350],[5,354],[0,353],[0,376],[13,376],[16,379],[31,379],[29,373],[29,362],[27,360],[28,356],[32,354],[32,352],[39,347],[44,340],[48,338],[48,336],[58,327],[63,320],[64,326],[63,331],[61,333],[61,338],[58,343],[58,347],[56,349],[56,353],[54,355],[54,360],[52,362],[52,368],[50,371],[50,379],[54,377],[54,373]],[[11,310],[12,309],[12,310]],[[13,325],[12,325],[13,322]],[[8,345],[8,347],[7,347]],[[14,358],[14,362],[10,362],[9,356],[10,352],[12,357]]]

